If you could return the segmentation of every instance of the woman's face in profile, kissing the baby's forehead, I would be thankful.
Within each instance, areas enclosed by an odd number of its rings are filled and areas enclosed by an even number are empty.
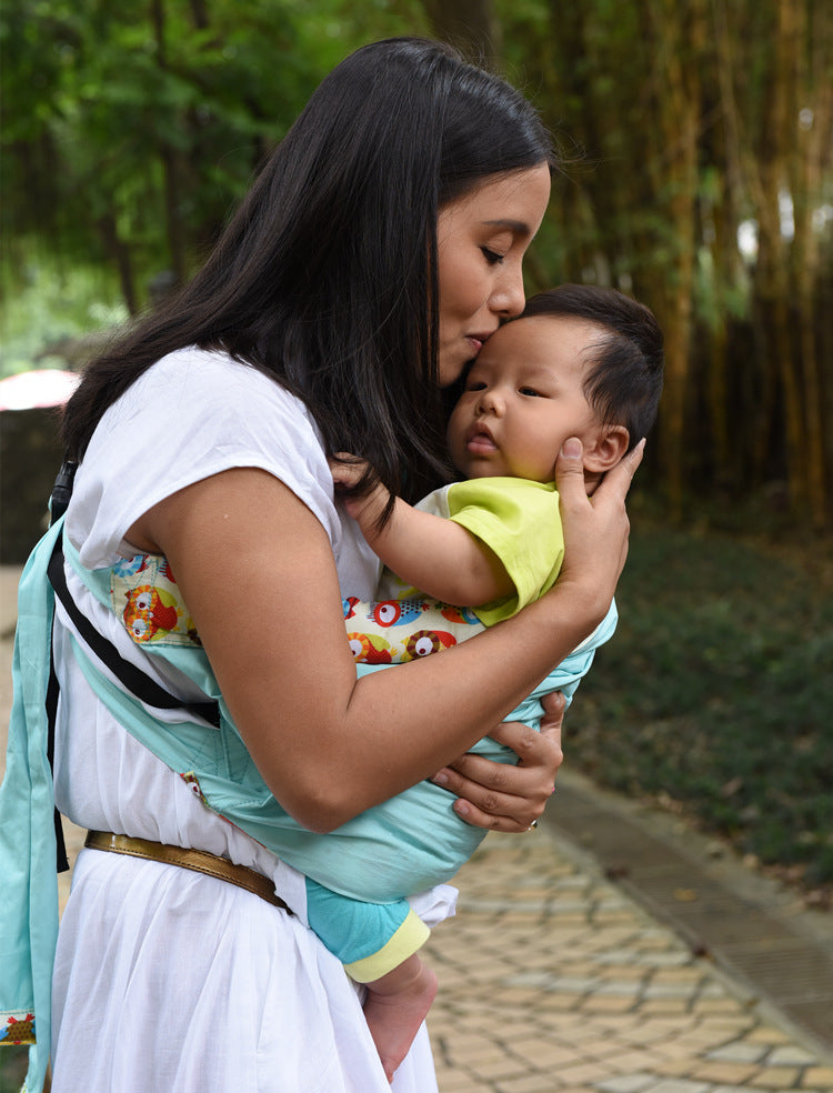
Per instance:
[[[550,200],[545,163],[496,174],[440,210],[440,383],[478,355],[501,322],[523,311],[523,255]]]

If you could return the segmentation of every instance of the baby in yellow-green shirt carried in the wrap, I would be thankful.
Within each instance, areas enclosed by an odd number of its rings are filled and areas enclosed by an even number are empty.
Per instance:
[[[592,493],[654,421],[662,343],[648,308],[612,289],[585,285],[562,285],[534,297],[520,319],[489,339],[449,422],[451,455],[465,481],[444,487],[416,507],[394,499],[387,521],[381,518],[391,498],[381,483],[361,495],[345,492],[348,512],[388,570],[379,596],[390,618],[380,604],[371,612],[381,620],[382,632],[399,616],[400,604],[413,611],[418,598],[439,601],[435,608],[473,606],[480,623],[490,626],[554,584],[563,558],[554,485],[561,447],[568,438],[581,440]],[[367,464],[349,455],[333,462],[337,487],[354,485],[365,472]],[[353,610],[354,601],[345,603],[348,615],[361,614]],[[453,612],[443,614],[453,618]],[[455,640],[445,633],[448,641],[429,641],[422,649],[412,641],[401,656],[387,649],[380,655],[380,648],[390,643],[379,626],[375,635],[365,636],[351,619],[348,629],[358,659],[377,663],[407,660]],[[361,655],[361,650],[371,655]],[[402,855],[407,871],[405,845]],[[315,917],[311,896],[310,924],[318,930]],[[375,979],[349,967],[367,982],[365,1015],[389,1077],[436,991],[435,976],[416,955],[425,933],[416,927],[409,935],[403,922],[395,944],[388,943],[394,944],[398,962]],[[337,944],[327,936],[324,941],[340,955]],[[359,963],[373,966],[372,959]]]

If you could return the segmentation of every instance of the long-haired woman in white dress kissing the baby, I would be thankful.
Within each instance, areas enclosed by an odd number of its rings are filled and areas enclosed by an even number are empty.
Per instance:
[[[411,498],[444,475],[441,388],[523,307],[551,163],[525,101],[446,48],[359,50],[312,97],[192,284],[93,364],[68,407],[80,469],[64,573],[81,613],[183,702],[204,696],[92,591],[120,559],[164,555],[239,729],[223,738],[241,749],[230,776],[253,761],[313,831],[438,771],[472,822],[523,831],[552,788],[560,751],[545,735],[492,732],[518,769],[455,758],[604,615],[635,461],[591,503],[580,458],[562,460],[568,555],[539,603],[358,682],[340,584],[368,598],[377,563],[333,504],[327,464],[355,452]],[[174,774],[190,772],[133,739],[91,688],[61,606],[53,646],[59,809],[230,859],[292,904],[297,876],[207,810],[193,779]],[[389,1087],[340,965],[297,916],[238,881],[93,849],[61,924],[52,1044],[54,1093]],[[435,1089],[424,1033],[393,1089]]]

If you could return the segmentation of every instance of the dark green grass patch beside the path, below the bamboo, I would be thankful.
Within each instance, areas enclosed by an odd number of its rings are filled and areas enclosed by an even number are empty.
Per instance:
[[[833,884],[830,543],[633,523],[619,630],[571,711],[570,762],[806,889]]]

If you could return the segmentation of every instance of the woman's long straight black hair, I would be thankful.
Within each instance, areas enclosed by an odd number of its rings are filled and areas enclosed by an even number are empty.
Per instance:
[[[438,210],[542,162],[552,144],[533,108],[451,48],[403,38],[352,53],[190,284],[90,365],[63,418],[69,458],[145,369],[195,344],[301,398],[328,455],[353,452],[394,494],[421,494],[445,473]]]

